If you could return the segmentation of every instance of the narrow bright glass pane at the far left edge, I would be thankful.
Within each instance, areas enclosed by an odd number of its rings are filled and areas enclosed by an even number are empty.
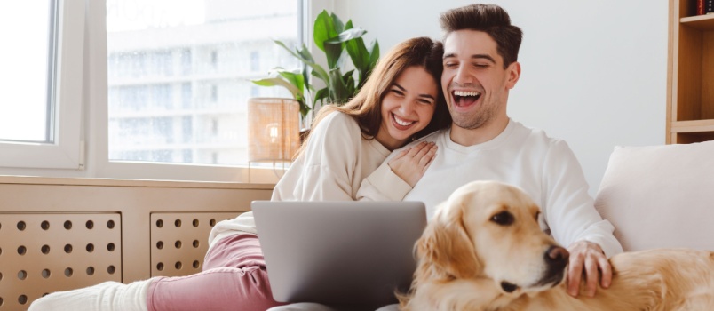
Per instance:
[[[0,4],[0,140],[52,142],[52,3]]]

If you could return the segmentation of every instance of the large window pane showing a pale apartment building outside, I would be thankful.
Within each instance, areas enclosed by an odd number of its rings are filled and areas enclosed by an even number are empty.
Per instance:
[[[250,82],[298,68],[296,0],[108,0],[110,161],[248,163]]]

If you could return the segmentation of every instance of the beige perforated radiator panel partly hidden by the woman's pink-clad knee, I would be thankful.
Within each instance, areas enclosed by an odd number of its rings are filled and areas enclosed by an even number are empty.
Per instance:
[[[200,272],[210,229],[240,212],[151,214],[151,275],[181,276]]]

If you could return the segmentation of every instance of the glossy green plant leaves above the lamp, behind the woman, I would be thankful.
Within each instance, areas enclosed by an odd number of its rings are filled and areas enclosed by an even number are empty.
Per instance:
[[[362,40],[362,36],[366,33],[367,31],[362,28],[354,28],[352,20],[343,23],[334,13],[323,10],[315,19],[313,39],[315,45],[325,53],[328,67],[323,68],[317,64],[305,44],[302,48],[296,47],[293,51],[287,45],[275,40],[275,44],[282,46],[298,58],[304,64],[303,68],[293,70],[273,68],[268,77],[252,82],[262,86],[282,86],[288,89],[293,98],[300,103],[300,114],[303,118],[314,110],[317,102],[321,105],[344,104],[360,91],[379,59],[379,44],[375,40],[368,48]],[[353,65],[353,69],[347,72],[343,72],[345,52]],[[310,76],[319,79],[325,87],[317,89],[311,83]]]

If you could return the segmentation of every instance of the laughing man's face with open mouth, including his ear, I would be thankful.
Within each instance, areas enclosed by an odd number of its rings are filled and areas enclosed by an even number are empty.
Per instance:
[[[485,32],[458,30],[444,41],[441,85],[454,124],[477,129],[496,118],[506,118],[508,90],[518,80],[513,62],[504,69],[496,41]]]

